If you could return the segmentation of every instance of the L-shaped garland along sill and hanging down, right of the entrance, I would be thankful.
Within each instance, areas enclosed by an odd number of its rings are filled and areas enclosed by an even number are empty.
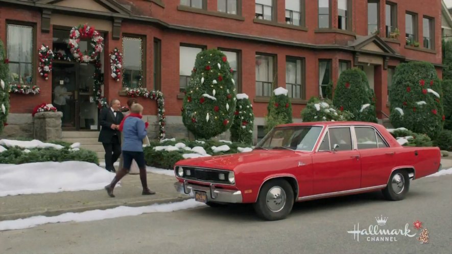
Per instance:
[[[159,122],[159,140],[165,138],[165,124],[166,124],[166,116],[165,116],[165,100],[163,97],[163,93],[160,91],[148,91],[145,88],[125,88],[124,92],[127,93],[129,97],[144,97],[151,98],[157,100],[157,119]]]

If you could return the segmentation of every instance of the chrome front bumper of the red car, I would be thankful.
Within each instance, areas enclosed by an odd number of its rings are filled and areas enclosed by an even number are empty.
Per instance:
[[[217,189],[213,184],[209,187],[189,184],[187,181],[176,182],[174,184],[177,192],[195,197],[195,191],[205,192],[207,195],[207,201],[212,202],[225,202],[225,203],[241,203],[242,192],[237,190]]]

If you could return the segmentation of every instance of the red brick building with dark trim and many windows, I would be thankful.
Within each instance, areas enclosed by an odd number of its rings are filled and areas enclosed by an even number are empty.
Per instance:
[[[397,64],[428,61],[441,77],[441,7],[441,0],[0,0],[0,39],[11,77],[41,89],[37,95],[11,94],[5,135],[32,135],[33,108],[54,103],[60,83],[67,95],[59,108],[63,131],[98,130],[93,64],[55,60],[47,81],[37,71],[40,46],[67,54],[70,28],[85,23],[105,38],[103,95],[125,104],[123,87],[162,91],[168,137],[187,135],[180,117],[183,90],[196,54],[206,48],[228,56],[237,92],[253,103],[255,138],[262,135],[276,86],[290,91],[294,121],[301,121],[306,101],[324,96],[328,83],[336,84],[341,71],[353,66],[366,72],[384,119]],[[79,46],[90,49],[88,41]],[[124,54],[119,82],[110,76],[114,48]],[[138,100],[156,122],[155,101]],[[158,125],[151,129],[156,134]]]

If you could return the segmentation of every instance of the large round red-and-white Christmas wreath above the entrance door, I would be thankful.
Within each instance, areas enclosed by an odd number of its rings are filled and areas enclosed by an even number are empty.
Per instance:
[[[79,42],[81,39],[91,39],[91,46],[94,50],[88,55],[83,55],[80,52]],[[80,24],[78,27],[73,27],[70,30],[68,46],[70,47],[70,53],[73,54],[76,61],[87,63],[97,60],[99,53],[104,49],[103,42],[104,38],[93,27],[89,27],[87,24],[83,26]]]

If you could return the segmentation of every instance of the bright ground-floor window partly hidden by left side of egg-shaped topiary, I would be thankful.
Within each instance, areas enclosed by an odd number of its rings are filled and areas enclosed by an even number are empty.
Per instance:
[[[185,92],[195,67],[196,56],[202,51],[202,48],[180,46],[179,50],[179,91]]]

